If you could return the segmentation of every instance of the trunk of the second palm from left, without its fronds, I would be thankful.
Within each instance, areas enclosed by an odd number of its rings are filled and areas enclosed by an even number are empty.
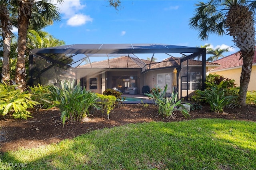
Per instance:
[[[26,89],[26,68],[25,68],[25,52],[26,38],[28,32],[29,18],[31,16],[31,8],[34,0],[21,0],[18,19],[18,58],[16,63],[15,79],[18,88],[24,91]]]

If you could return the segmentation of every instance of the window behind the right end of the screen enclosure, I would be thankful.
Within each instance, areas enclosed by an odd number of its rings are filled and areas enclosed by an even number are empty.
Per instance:
[[[186,90],[186,89],[196,90],[196,89],[200,88],[200,79],[201,79],[200,72],[188,73],[188,87],[187,87],[187,77],[184,76],[181,79],[182,90]]]

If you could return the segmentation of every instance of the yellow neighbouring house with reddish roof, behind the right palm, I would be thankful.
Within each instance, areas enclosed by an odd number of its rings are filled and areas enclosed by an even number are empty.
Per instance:
[[[237,86],[240,86],[240,75],[242,72],[243,63],[242,58],[239,60],[240,56],[241,53],[236,52],[234,54],[214,61],[214,63],[218,63],[221,66],[210,70],[209,73],[215,73],[229,79],[235,79]],[[252,90],[256,90],[256,51],[254,52],[254,57],[252,60],[252,72],[250,77],[250,83],[248,85],[248,91]]]

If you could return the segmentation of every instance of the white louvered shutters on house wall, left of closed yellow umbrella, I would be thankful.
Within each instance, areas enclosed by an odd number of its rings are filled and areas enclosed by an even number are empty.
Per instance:
[[[166,93],[171,93],[172,89],[172,80],[171,80],[171,75],[170,73],[163,73],[163,74],[157,74],[157,84],[158,86],[164,90],[164,87],[167,86],[167,91]]]

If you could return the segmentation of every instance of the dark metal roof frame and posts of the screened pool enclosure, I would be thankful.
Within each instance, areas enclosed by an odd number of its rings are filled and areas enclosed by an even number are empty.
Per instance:
[[[172,56],[173,53],[188,54],[186,57],[180,59],[180,63],[184,63],[188,59],[197,56],[202,56],[202,89],[205,89],[206,80],[206,48],[200,47],[186,47],[179,45],[166,44],[73,44],[63,45],[58,47],[48,47],[41,49],[31,49],[29,56],[29,85],[33,85],[33,58],[39,57],[46,60],[50,65],[60,65],[66,69],[76,70],[85,59],[91,63],[92,57],[115,57],[115,56],[132,56],[137,57],[138,54],[167,54]],[[66,64],[62,61],[56,60],[51,56],[56,54],[70,54],[70,58],[74,61],[72,64]],[[78,55],[83,54],[84,57],[79,58]],[[138,58],[138,57],[137,57]],[[139,58],[138,58],[139,59]],[[74,63],[79,63],[73,67]],[[51,66],[48,66],[51,67]],[[182,65],[180,68],[182,69]],[[74,71],[75,73],[75,71]],[[181,91],[181,89],[180,89]]]

